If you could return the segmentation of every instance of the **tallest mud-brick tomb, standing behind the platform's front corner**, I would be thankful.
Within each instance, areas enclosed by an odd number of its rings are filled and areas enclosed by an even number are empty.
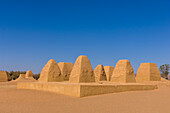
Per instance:
[[[95,82],[93,68],[87,56],[79,56],[74,64],[69,82],[87,83]]]

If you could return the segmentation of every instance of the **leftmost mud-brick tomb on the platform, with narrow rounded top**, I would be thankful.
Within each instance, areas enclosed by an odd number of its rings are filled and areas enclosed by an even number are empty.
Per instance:
[[[61,82],[63,78],[61,77],[61,71],[58,67],[58,64],[55,60],[51,59],[44,66],[41,71],[40,78],[38,79],[40,82]]]

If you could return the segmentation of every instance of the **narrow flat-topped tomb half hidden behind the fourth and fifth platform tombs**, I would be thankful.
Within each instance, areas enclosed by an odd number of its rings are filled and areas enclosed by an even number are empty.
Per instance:
[[[110,81],[114,67],[113,66],[104,66],[104,70],[106,73],[107,81]]]

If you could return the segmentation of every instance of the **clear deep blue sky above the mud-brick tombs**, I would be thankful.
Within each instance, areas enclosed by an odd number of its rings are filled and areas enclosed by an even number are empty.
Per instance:
[[[49,59],[93,68],[170,64],[168,0],[0,0],[0,70],[40,73]]]

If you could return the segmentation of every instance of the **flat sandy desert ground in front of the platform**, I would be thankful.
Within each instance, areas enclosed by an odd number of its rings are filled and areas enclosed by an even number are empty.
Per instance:
[[[170,87],[85,98],[0,83],[0,113],[170,113]],[[12,86],[12,87],[9,87]]]

